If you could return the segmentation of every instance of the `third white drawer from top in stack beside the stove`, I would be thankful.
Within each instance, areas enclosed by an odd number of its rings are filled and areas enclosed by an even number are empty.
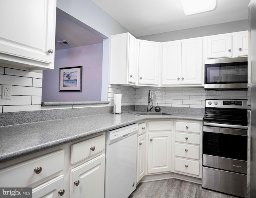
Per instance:
[[[175,144],[175,156],[199,160],[199,146]]]

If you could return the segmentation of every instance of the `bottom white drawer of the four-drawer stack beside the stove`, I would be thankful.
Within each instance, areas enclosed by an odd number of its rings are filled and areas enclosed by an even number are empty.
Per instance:
[[[176,171],[199,175],[199,162],[197,161],[175,158],[174,166]]]

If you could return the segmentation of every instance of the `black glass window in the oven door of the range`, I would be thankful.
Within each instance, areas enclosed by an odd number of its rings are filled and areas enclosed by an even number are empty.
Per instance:
[[[204,132],[203,154],[247,160],[247,136]]]

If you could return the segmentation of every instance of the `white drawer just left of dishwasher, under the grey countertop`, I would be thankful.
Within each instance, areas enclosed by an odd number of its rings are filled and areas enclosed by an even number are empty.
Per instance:
[[[105,149],[105,135],[74,144],[71,146],[71,164],[75,164]]]

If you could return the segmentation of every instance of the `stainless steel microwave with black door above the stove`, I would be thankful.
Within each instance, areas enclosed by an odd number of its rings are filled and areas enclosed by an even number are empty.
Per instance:
[[[247,57],[207,59],[204,89],[247,89]]]

